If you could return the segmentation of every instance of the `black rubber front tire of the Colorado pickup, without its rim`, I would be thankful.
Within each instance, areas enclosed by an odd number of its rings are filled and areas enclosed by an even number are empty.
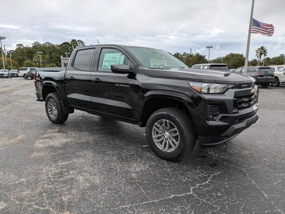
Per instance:
[[[180,136],[180,141],[174,151],[166,152],[155,145],[152,138],[152,129],[156,122],[166,119],[173,123]],[[196,130],[191,117],[180,109],[164,108],[151,114],[146,126],[147,142],[151,150],[159,157],[168,161],[179,161],[194,149],[197,140]]]

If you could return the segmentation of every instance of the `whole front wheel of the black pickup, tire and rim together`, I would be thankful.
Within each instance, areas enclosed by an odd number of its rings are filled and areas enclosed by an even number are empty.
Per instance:
[[[176,108],[155,111],[147,120],[146,135],[151,150],[169,161],[183,159],[197,140],[191,117]]]

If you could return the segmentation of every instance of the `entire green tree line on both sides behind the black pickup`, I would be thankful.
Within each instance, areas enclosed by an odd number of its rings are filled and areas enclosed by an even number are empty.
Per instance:
[[[82,40],[72,39],[70,42],[64,42],[61,44],[52,44],[50,42],[39,43],[34,42],[30,46],[24,46],[23,44],[17,44],[16,49],[12,53],[12,64],[13,68],[19,67],[40,67],[40,58],[37,51],[43,52],[41,54],[42,67],[60,67],[60,55],[65,56],[65,52],[71,53],[74,48],[85,46]],[[4,52],[4,51],[3,51]],[[280,54],[275,57],[266,57],[267,49],[261,46],[256,51],[257,59],[249,61],[248,65],[279,65],[284,64],[284,54]],[[194,64],[208,63],[206,55],[200,53],[174,53],[173,56],[177,57],[181,61],[184,61],[189,67]],[[263,56],[263,59],[262,59]],[[11,69],[10,66],[10,53],[6,55],[7,63],[5,62],[5,68]],[[4,59],[5,61],[5,59]],[[229,53],[223,57],[217,57],[216,59],[210,60],[210,63],[225,63],[228,64],[230,69],[244,66],[245,56],[240,53]],[[0,68],[3,68],[2,57],[0,57]]]

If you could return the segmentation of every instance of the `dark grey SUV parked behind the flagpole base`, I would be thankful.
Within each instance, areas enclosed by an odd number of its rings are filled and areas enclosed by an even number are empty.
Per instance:
[[[244,73],[244,67],[239,67],[233,72]],[[256,84],[264,88],[274,82],[274,73],[270,67],[249,66],[246,75],[252,76],[256,80]]]

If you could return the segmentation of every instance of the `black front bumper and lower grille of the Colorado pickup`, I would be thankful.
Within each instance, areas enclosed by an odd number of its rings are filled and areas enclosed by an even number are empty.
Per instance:
[[[241,88],[229,89],[224,94],[199,95],[203,99],[195,110],[189,109],[199,145],[210,147],[221,144],[254,124],[258,120],[258,93],[253,88]],[[255,97],[253,103],[252,97]],[[213,118],[209,117],[209,106],[217,106],[219,110]]]

